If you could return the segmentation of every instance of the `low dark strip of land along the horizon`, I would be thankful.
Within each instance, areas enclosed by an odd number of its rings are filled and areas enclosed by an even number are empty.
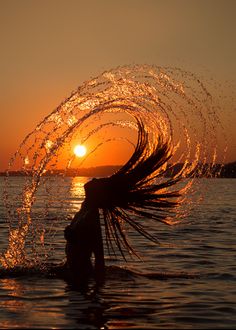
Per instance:
[[[167,168],[165,176],[171,177],[175,173],[177,173],[183,164],[176,164],[171,168]],[[97,167],[88,167],[88,168],[79,168],[79,169],[66,169],[66,170],[49,170],[46,171],[43,175],[59,175],[59,176],[85,176],[85,177],[105,177],[112,175],[118,169],[120,169],[122,165],[107,165],[107,166],[97,166]],[[195,176],[196,176],[195,172]],[[236,161],[232,163],[227,163],[224,165],[215,164],[209,173],[209,165],[204,165],[203,170],[201,170],[199,177],[218,177],[218,178],[236,178]],[[0,176],[25,176],[31,175],[30,171],[8,171],[8,172],[0,172]],[[191,175],[189,175],[191,176]]]

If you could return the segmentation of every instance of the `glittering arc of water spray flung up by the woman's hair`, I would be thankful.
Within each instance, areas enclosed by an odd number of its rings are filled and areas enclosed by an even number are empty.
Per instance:
[[[55,191],[51,182],[57,179],[45,174],[79,169],[108,143],[112,147],[123,141],[134,146],[135,118],[148,132],[149,152],[159,136],[172,144],[173,157],[165,174],[191,177],[181,183],[185,203],[172,220],[186,215],[186,205],[191,205],[197,190],[193,178],[212,176],[217,162],[220,123],[213,98],[197,76],[178,68],[119,67],[82,84],[26,136],[10,160],[8,174],[21,170],[25,177],[20,190],[14,190],[6,177],[9,246],[0,258],[4,267],[32,265],[50,254],[50,247],[45,247],[44,221],[52,203],[66,209],[67,201],[63,185]],[[90,145],[80,162],[72,152],[74,141]],[[49,202],[33,216],[40,189]],[[55,219],[60,219],[59,212]],[[53,221],[51,226],[55,226]],[[53,235],[50,228],[47,233]]]

